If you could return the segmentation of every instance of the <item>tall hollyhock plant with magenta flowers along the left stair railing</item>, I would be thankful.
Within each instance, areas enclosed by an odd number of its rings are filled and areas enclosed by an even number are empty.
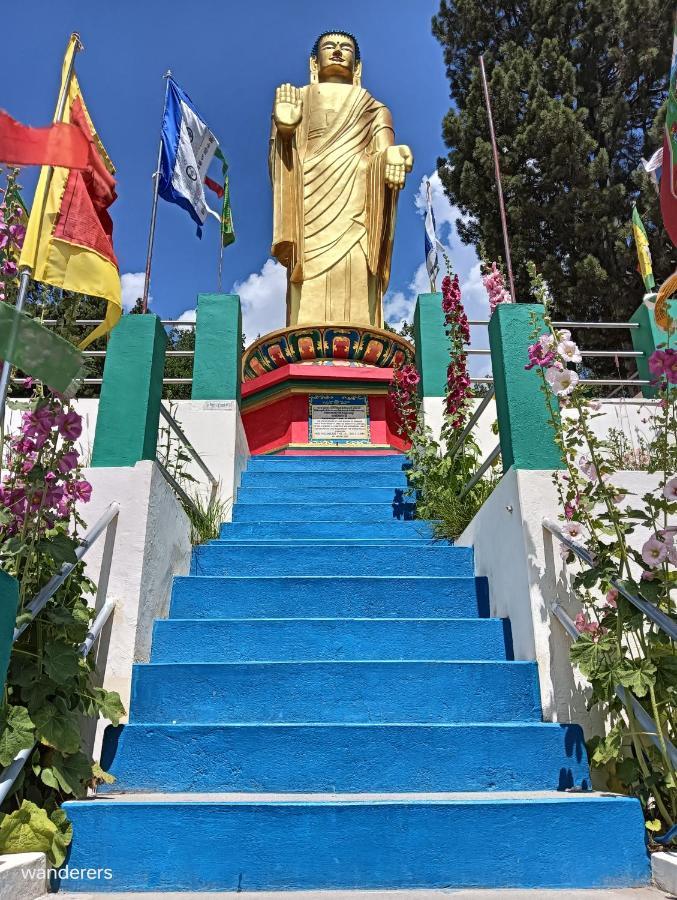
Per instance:
[[[60,804],[110,780],[85,752],[83,721],[117,723],[124,709],[116,693],[96,684],[94,660],[81,653],[95,615],[88,603],[94,585],[82,567],[74,566],[35,618],[27,611],[64,564],[77,563],[84,523],[76,499],[91,487],[74,446],[79,417],[56,398],[21,406],[21,434],[3,448],[0,565],[19,581],[17,624],[28,627],[12,648],[0,706],[0,766],[22,750],[32,753],[0,809],[0,852],[43,851],[59,864],[71,834]]]

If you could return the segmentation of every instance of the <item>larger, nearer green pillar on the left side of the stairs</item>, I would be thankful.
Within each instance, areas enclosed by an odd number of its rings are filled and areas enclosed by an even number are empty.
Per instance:
[[[153,315],[123,316],[106,353],[92,466],[155,459],[167,334]]]

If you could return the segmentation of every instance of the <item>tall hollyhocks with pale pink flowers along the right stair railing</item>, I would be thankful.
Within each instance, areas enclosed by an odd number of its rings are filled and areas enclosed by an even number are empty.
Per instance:
[[[566,464],[564,474],[554,474],[565,519],[562,527],[584,543],[593,559],[592,565],[571,572],[572,588],[582,604],[571,660],[590,682],[589,706],[598,708],[607,723],[606,734],[589,742],[590,758],[593,766],[604,767],[611,789],[640,799],[651,833],[666,832],[677,820],[677,780],[667,751],[668,741],[677,743],[677,647],[619,588],[677,622],[677,548],[669,529],[677,513],[677,387],[667,381],[659,385],[653,437],[639,444],[641,458],[633,457],[637,463],[633,468],[641,463],[645,471],[659,473],[658,488],[646,493],[641,503],[630,505],[627,492],[614,483],[619,469],[628,468],[627,441],[619,433],[606,440],[595,434],[598,405],[580,385],[559,391],[555,385],[560,405],[571,407],[572,415],[563,418],[555,409],[547,374],[556,372],[550,367],[563,336],[553,328],[547,306],[545,322],[546,332],[541,334],[533,317],[532,337],[539,347],[547,345],[552,355],[534,377],[541,379]],[[641,553],[632,541],[639,526],[651,532]],[[658,558],[651,556],[652,545],[658,547]],[[573,553],[565,551],[565,556],[567,565],[574,563]],[[625,689],[624,699],[618,687]],[[655,740],[638,725],[628,695],[656,723]]]

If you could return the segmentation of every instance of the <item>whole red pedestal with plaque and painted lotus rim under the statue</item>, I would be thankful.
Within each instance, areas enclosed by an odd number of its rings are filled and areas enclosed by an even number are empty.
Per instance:
[[[256,341],[243,360],[242,419],[253,454],[406,449],[388,398],[411,344],[378,328],[306,325]]]

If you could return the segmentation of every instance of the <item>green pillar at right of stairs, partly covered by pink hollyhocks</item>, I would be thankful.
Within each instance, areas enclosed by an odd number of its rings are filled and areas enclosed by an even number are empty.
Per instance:
[[[524,368],[529,362],[527,348],[533,343],[530,314],[536,313],[542,324],[543,311],[543,306],[537,303],[502,303],[496,307],[489,322],[504,472],[511,466],[516,469],[563,468],[548,421],[541,379],[534,369],[527,371]],[[559,410],[554,395],[552,400]]]

